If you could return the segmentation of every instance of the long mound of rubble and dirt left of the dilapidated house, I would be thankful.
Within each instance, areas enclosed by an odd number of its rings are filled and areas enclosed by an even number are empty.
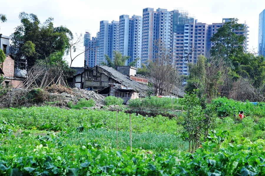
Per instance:
[[[46,89],[1,89],[0,108],[44,105],[67,108],[68,102],[76,104],[82,98],[94,99],[97,107],[104,105],[105,97],[93,91],[52,85]]]

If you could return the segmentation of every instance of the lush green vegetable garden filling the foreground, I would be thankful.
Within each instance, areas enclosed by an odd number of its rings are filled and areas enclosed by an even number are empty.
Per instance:
[[[265,104],[202,104],[196,94],[130,100],[132,111],[176,116],[132,113],[132,151],[129,107],[119,109],[117,136],[117,112],[82,109],[91,100],[0,109],[0,175],[265,175]]]

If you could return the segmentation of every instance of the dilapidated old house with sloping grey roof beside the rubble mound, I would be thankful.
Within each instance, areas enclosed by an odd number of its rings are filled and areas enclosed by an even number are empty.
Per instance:
[[[130,99],[145,97],[148,87],[131,79],[117,70],[97,65],[92,69],[86,69],[84,85],[86,89],[94,90],[105,96],[120,97],[126,103]]]

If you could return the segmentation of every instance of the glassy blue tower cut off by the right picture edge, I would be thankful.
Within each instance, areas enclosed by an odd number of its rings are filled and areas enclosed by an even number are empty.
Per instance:
[[[265,56],[265,9],[259,14],[258,54]]]

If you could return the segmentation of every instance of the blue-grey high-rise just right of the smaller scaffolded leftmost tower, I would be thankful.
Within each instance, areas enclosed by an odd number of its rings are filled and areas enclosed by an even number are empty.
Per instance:
[[[99,34],[99,63],[105,62],[104,55],[113,58],[113,51],[117,49],[117,35],[119,32],[119,21],[100,21]]]

